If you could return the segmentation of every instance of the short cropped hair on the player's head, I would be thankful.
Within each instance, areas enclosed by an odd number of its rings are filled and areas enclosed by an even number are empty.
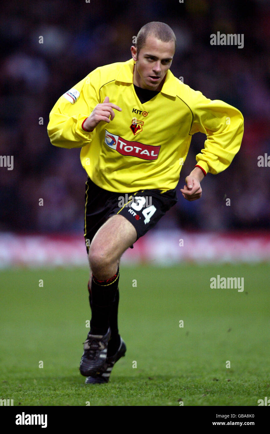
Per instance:
[[[176,48],[176,36],[170,26],[165,23],[160,23],[159,21],[151,21],[151,23],[145,24],[137,34],[137,41],[135,44],[137,55],[140,53],[140,49],[145,45],[147,36],[150,35],[155,36],[163,42],[174,41]]]

